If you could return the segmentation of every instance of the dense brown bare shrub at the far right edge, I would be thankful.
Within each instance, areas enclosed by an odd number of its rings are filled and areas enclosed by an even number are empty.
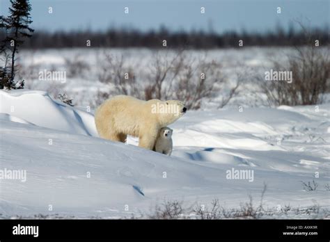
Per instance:
[[[272,61],[276,72],[292,72],[292,83],[288,81],[265,81],[263,74],[256,80],[267,96],[269,106],[296,106],[321,104],[330,88],[329,46],[315,46],[315,39],[301,25],[307,45],[295,47],[294,54],[288,54],[287,61]]]

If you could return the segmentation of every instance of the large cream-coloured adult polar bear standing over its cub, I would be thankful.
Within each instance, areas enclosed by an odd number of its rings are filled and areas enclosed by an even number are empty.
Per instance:
[[[152,150],[159,130],[178,120],[187,108],[177,100],[143,101],[126,95],[107,99],[95,111],[101,138],[125,143],[127,135],[139,137],[139,147]]]

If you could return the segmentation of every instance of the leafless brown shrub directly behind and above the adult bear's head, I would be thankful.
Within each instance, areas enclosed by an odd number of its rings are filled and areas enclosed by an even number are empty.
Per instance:
[[[180,99],[187,108],[201,108],[203,98],[213,98],[226,80],[216,61],[191,58],[184,51],[174,56],[157,53],[148,75],[144,99]]]

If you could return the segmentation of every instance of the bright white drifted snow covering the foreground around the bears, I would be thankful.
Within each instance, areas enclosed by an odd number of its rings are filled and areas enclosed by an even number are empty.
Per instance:
[[[2,216],[54,214],[123,218],[162,200],[224,207],[329,208],[330,105],[189,111],[174,124],[165,156],[97,137],[93,114],[37,90],[0,91],[0,170],[26,170],[26,182],[0,179]],[[228,170],[252,170],[227,179]],[[315,178],[315,172],[319,177]],[[317,191],[301,181],[315,179]],[[49,211],[52,205],[52,211]],[[125,210],[128,208],[128,211]]]

